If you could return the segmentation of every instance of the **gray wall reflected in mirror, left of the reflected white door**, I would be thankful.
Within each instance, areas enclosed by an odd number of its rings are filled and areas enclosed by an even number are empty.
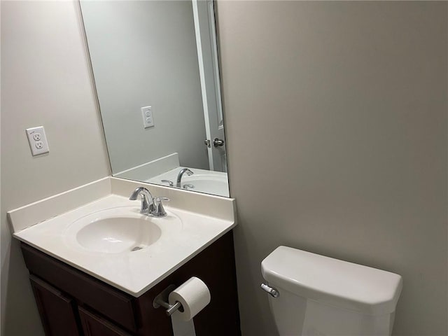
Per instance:
[[[191,1],[83,1],[113,173],[179,153],[208,169]],[[144,129],[140,108],[152,106]]]

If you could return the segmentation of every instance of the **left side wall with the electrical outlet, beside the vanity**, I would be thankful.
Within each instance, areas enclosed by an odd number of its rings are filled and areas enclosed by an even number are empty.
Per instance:
[[[1,335],[43,335],[6,211],[110,174],[78,5],[1,1]],[[25,129],[50,153],[32,158]]]

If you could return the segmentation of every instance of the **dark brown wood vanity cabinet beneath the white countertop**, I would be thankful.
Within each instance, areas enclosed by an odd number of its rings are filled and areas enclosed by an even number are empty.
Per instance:
[[[207,284],[211,302],[193,318],[197,336],[239,336],[233,235],[228,232],[140,297],[133,297],[22,243],[47,336],[172,336],[171,318],[153,300],[191,276]]]

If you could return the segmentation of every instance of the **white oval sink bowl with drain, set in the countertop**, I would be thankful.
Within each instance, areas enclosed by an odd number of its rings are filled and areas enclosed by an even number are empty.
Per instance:
[[[137,251],[158,241],[162,230],[141,218],[104,218],[85,225],[76,234],[78,243],[91,251]]]

